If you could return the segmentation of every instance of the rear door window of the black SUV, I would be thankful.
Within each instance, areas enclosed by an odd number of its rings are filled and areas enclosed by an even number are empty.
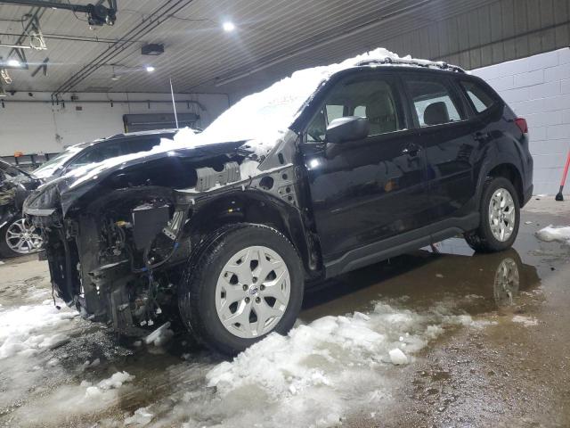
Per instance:
[[[460,103],[444,82],[410,78],[406,86],[411,95],[420,127],[431,127],[466,119]]]

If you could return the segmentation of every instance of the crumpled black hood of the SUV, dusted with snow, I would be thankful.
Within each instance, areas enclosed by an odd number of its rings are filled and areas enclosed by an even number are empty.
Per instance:
[[[206,146],[175,149],[167,152],[150,152],[146,155],[145,153],[134,153],[134,155],[121,156],[89,165],[40,186],[26,200],[24,212],[29,214],[31,213],[30,210],[57,210],[61,207],[61,213],[65,217],[69,208],[79,198],[99,185],[109,184],[113,178],[134,171],[140,171],[141,176],[145,176],[145,171],[153,168],[163,169],[164,174],[172,174],[173,168],[169,167],[170,163],[180,168],[178,166],[179,162],[175,162],[176,160],[196,162],[200,166],[208,166],[209,159],[214,159],[224,154],[236,154],[244,143],[240,141],[208,144]],[[244,152],[244,154],[247,153]],[[188,173],[190,171],[185,169],[181,172]],[[148,178],[154,181],[152,177]],[[180,185],[175,185],[173,188],[183,187],[183,177],[181,177]]]

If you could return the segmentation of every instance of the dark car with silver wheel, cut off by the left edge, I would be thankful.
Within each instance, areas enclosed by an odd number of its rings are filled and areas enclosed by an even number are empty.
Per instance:
[[[39,184],[27,172],[0,161],[0,257],[29,254],[41,246],[40,232],[21,212],[24,200]]]

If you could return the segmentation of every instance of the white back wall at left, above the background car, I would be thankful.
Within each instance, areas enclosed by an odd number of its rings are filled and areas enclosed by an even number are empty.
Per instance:
[[[0,98],[0,156],[14,152],[27,154],[61,152],[64,147],[93,141],[95,138],[125,132],[123,115],[129,113],[171,113],[170,94],[86,94],[77,93],[79,103],[29,103],[27,93]],[[228,97],[223,94],[179,94],[176,100],[195,100],[196,104],[177,103],[179,113],[196,112],[200,116],[199,127],[206,128],[228,107]],[[49,100],[49,93],[34,93],[34,100]],[[143,101],[120,103],[118,100]],[[4,107],[2,107],[4,100]],[[14,103],[21,100],[21,103]],[[97,100],[104,103],[81,103],[81,100]],[[110,105],[110,100],[114,100]],[[167,103],[146,103],[146,100]],[[11,102],[12,101],[12,102]],[[77,111],[76,106],[82,110]]]

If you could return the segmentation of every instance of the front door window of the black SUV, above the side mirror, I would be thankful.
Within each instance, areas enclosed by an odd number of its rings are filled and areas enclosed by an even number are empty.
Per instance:
[[[306,141],[323,142],[334,119],[361,116],[370,123],[369,136],[403,129],[390,78],[346,78],[334,86],[307,128]]]

